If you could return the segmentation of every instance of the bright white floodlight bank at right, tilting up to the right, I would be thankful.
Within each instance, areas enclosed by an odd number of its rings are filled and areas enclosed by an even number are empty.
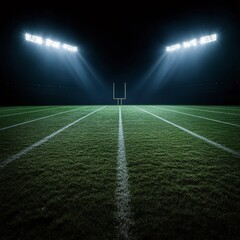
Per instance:
[[[182,44],[178,43],[169,47],[166,47],[167,52],[174,52],[181,48],[191,48],[191,47],[197,47],[199,45],[204,45],[207,43],[215,42],[217,41],[217,34],[212,34],[209,36],[203,36],[197,39],[192,39],[190,41],[185,41]]]

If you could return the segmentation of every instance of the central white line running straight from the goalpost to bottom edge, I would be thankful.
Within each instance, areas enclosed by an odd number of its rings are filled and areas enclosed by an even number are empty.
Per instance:
[[[130,207],[130,191],[128,187],[128,169],[125,154],[125,144],[122,126],[122,110],[119,106],[119,131],[118,131],[118,162],[117,162],[117,220],[118,238],[130,239],[129,229],[133,224]]]

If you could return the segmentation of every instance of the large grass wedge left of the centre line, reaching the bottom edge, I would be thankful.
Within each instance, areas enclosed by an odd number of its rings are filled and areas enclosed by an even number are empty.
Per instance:
[[[0,236],[117,239],[117,151],[109,106],[1,169]]]

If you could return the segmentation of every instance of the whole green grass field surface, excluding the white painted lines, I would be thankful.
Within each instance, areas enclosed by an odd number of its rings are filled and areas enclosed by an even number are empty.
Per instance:
[[[55,107],[0,108],[0,128],[80,108],[0,131],[0,163],[101,106]],[[240,152],[238,127],[139,107]],[[159,107],[240,125],[240,107]],[[117,239],[118,117],[108,106],[0,168],[1,240]],[[240,239],[240,158],[133,106],[122,121],[133,239]]]

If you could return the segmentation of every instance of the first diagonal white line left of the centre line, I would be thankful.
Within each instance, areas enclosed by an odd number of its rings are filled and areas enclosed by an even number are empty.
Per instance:
[[[12,156],[10,156],[10,157],[7,158],[6,160],[4,160],[0,166],[1,166],[1,167],[5,167],[7,164],[9,164],[9,163],[15,161],[16,159],[20,158],[21,156],[23,156],[23,155],[29,153],[30,151],[32,151],[34,148],[36,148],[36,147],[42,145],[43,143],[47,142],[49,139],[55,137],[55,136],[56,136],[57,134],[59,134],[60,132],[66,130],[67,128],[73,126],[74,124],[80,122],[80,121],[83,120],[84,118],[87,118],[87,117],[89,117],[90,115],[92,115],[92,114],[94,114],[94,113],[96,113],[96,112],[102,110],[103,108],[105,108],[105,107],[101,107],[101,108],[99,108],[99,109],[97,109],[97,110],[95,110],[95,111],[93,111],[93,112],[91,112],[91,113],[89,113],[89,114],[87,114],[87,115],[85,115],[85,116],[83,116],[83,117],[77,119],[76,121],[74,121],[74,122],[72,122],[72,123],[66,125],[65,127],[61,128],[61,129],[59,129],[59,130],[57,130],[56,132],[54,132],[54,133],[48,135],[47,137],[45,137],[45,138],[43,138],[43,139],[41,139],[41,140],[35,142],[35,143],[32,144],[31,146],[29,146],[29,147],[23,149],[22,151],[20,151],[20,152],[14,154],[14,155],[12,155]]]

